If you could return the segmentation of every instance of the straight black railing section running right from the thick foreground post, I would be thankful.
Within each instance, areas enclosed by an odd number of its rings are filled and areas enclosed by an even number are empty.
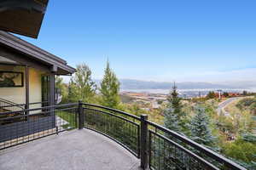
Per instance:
[[[155,170],[245,170],[234,161],[166,127],[148,124],[148,166]]]

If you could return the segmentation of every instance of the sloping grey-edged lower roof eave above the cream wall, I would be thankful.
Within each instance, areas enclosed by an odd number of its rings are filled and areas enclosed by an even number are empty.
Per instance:
[[[21,65],[31,65],[44,71],[59,75],[69,75],[76,70],[67,65],[67,61],[54,54],[49,54],[41,48],[15,37],[5,31],[0,31],[0,56],[15,60]]]

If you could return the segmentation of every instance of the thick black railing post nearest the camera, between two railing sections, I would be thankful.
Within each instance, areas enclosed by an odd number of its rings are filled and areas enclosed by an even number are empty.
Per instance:
[[[141,167],[148,168],[148,115],[141,115]]]

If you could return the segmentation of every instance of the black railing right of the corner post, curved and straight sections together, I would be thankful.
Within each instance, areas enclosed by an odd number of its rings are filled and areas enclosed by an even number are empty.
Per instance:
[[[144,117],[82,104],[84,127],[107,135],[154,170],[246,170],[224,156]],[[145,133],[146,132],[146,133]]]

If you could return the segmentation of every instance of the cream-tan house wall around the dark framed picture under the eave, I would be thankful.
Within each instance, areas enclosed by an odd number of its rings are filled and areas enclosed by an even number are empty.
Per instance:
[[[0,71],[21,71],[24,73],[24,87],[21,88],[0,88],[0,98],[8,99],[16,104],[26,103],[26,81],[25,81],[25,67],[24,66],[11,66],[0,65]],[[41,102],[41,75],[42,71],[29,68],[29,102]],[[40,107],[41,105],[31,105],[30,108]]]

